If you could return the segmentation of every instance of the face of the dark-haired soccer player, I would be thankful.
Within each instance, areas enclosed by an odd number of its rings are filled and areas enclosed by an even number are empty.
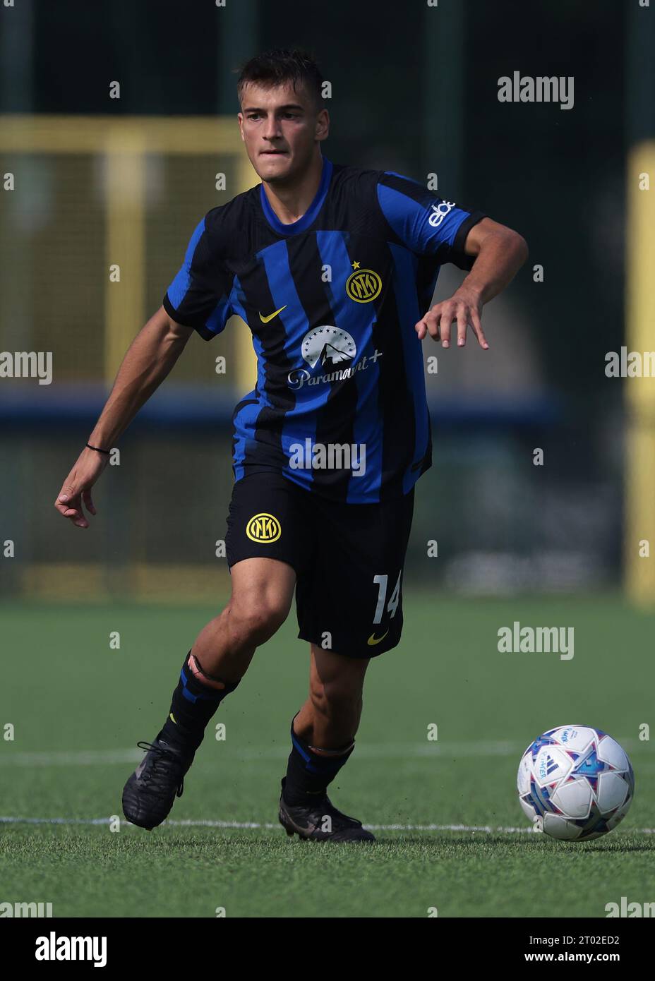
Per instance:
[[[317,112],[304,86],[244,87],[238,114],[241,138],[262,181],[288,183],[309,166],[327,136],[327,110]]]

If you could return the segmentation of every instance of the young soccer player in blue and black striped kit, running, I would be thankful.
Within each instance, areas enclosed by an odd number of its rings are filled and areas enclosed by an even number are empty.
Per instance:
[[[261,184],[213,208],[193,232],[161,309],[126,353],[56,507],[87,528],[82,502],[107,451],[166,378],[189,336],[248,324],[257,385],[233,414],[227,520],[231,597],[184,659],[168,718],[127,780],[126,817],[151,829],[220,702],[285,620],[295,590],[310,692],[291,722],[279,821],[288,835],[372,842],[327,786],[354,749],[364,675],[400,641],[402,569],[414,485],[430,466],[421,341],[458,345],[482,304],[525,261],[521,235],[399,175],[333,165],[321,153],[323,79],[302,52],[252,59],[238,124]],[[468,270],[428,309],[439,266]]]

